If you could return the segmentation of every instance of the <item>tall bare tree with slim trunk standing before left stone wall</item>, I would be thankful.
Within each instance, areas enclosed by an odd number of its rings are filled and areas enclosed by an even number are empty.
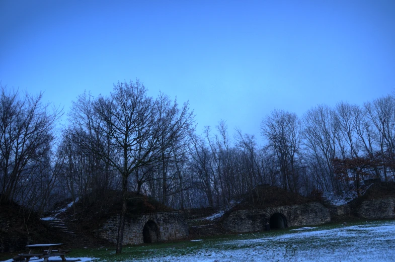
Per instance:
[[[180,110],[177,102],[170,104],[168,97],[160,95],[154,100],[146,92],[138,80],[114,85],[110,97],[100,96],[94,101],[93,123],[83,124],[90,127],[87,139],[82,141],[85,148],[122,177],[117,253],[122,252],[130,174],[136,174],[137,183],[144,183],[146,180],[139,177],[139,170],[161,163],[174,141],[181,140],[193,122],[188,104]],[[94,147],[90,146],[93,144]]]

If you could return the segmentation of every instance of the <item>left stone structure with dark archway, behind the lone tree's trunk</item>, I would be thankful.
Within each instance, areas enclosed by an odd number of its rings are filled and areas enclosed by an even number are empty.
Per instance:
[[[100,238],[117,242],[119,215],[111,217],[96,230]],[[188,237],[188,225],[181,212],[158,212],[126,218],[123,244],[154,243]]]

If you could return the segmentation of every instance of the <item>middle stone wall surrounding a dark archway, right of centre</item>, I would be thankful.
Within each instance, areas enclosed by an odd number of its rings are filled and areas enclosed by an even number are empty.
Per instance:
[[[321,203],[270,207],[255,210],[231,212],[222,222],[224,229],[233,232],[253,232],[265,229],[270,217],[280,213],[285,216],[288,226],[318,225],[331,221],[329,210]]]

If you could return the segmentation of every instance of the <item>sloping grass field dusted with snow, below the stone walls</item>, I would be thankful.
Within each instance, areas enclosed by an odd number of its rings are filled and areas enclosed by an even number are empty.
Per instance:
[[[395,261],[395,221],[291,228],[197,240],[201,241],[125,246],[121,255],[105,247],[85,251],[87,256],[97,257],[95,262]]]

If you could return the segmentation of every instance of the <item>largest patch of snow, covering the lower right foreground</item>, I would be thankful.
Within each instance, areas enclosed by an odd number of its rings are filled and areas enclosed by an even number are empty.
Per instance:
[[[355,230],[358,229],[358,230]],[[366,230],[365,230],[366,229]],[[240,262],[240,261],[395,261],[395,221],[323,228],[318,231],[289,231],[260,239],[207,240],[186,254],[155,253],[134,261]],[[370,244],[374,242],[374,245]],[[127,259],[128,260],[128,259]],[[131,260],[131,259],[130,259]],[[130,261],[128,260],[128,261]]]

